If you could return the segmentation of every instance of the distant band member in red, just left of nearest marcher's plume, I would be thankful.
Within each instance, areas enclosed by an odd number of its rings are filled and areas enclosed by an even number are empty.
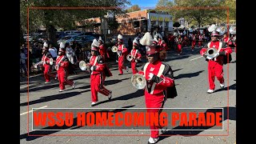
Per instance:
[[[136,74],[136,73],[138,73],[138,70],[136,69],[136,64],[138,62],[137,60],[142,57],[142,54],[139,54],[138,42],[136,39],[134,39],[134,41],[133,41],[133,50],[130,50],[130,55],[133,58],[130,61],[131,70],[133,71],[133,74]]]

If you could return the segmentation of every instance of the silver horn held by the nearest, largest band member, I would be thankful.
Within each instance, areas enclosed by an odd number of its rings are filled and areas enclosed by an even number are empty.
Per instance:
[[[142,90],[146,86],[146,78],[142,74],[134,74],[131,77],[131,84],[138,90]]]

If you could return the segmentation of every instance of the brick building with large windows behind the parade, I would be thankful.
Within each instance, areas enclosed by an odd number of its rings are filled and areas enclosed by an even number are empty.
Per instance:
[[[117,30],[105,30],[108,26],[106,22],[101,21],[104,18],[90,18],[86,21],[92,22],[92,27],[86,28],[85,31],[94,31],[98,34],[103,34],[106,31],[107,34],[122,35],[146,33],[147,31],[153,31],[155,27],[158,27],[159,31],[173,31],[172,16],[166,12],[157,13],[154,10],[139,10],[118,15],[116,18],[119,23]],[[82,26],[82,24],[78,23],[78,26]]]

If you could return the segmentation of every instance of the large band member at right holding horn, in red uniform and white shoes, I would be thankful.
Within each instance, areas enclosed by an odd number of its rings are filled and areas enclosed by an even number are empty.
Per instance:
[[[218,50],[218,56],[213,59],[207,59],[208,61],[208,80],[210,89],[207,90],[207,93],[213,93],[215,89],[214,79],[215,76],[217,77],[218,81],[220,82],[220,87],[224,88],[224,78],[223,78],[223,56],[232,53],[230,47],[226,47],[226,42],[218,41],[219,33],[218,31],[213,31],[211,33],[211,42],[204,46],[202,50],[200,50],[200,54],[207,58],[206,50],[207,48],[214,47]]]

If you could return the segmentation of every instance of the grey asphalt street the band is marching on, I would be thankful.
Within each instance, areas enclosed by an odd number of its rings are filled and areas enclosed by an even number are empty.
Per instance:
[[[190,47],[185,47],[181,55],[174,51],[168,52],[166,63],[174,70],[178,97],[167,99],[164,108],[223,108],[223,130],[210,128],[192,132],[183,131],[184,135],[169,130],[164,133],[167,136],[160,137],[158,143],[236,143],[236,54],[233,52],[232,62],[223,67],[225,88],[221,89],[218,80],[215,79],[214,93],[207,94],[206,91],[209,89],[207,62],[199,54],[199,50],[200,48],[196,47],[192,52]],[[138,66],[138,69],[140,68],[141,66]],[[127,108],[127,110],[145,108],[143,91],[131,85],[131,69],[121,76],[118,75],[117,67],[112,67],[111,72],[114,76],[106,78],[105,85],[106,89],[113,91],[113,97],[109,101],[106,96],[98,94],[99,102],[94,108]],[[45,84],[42,75],[31,77],[29,82],[26,78],[21,79],[20,143],[147,143],[150,138],[149,130],[88,131],[80,130],[79,127],[71,127],[68,128],[69,130],[32,130],[32,108],[90,108],[90,75],[82,71],[68,78],[76,82],[76,88],[72,90],[71,86],[66,86],[66,90],[62,93],[58,92],[58,81],[52,80]],[[37,136],[28,136],[28,132]]]

